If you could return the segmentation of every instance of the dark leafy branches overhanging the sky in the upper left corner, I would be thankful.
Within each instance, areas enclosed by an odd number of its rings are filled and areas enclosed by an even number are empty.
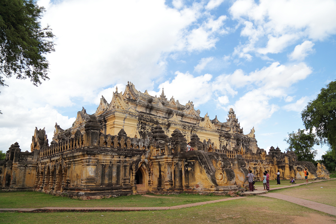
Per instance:
[[[35,86],[49,79],[44,55],[54,51],[54,35],[49,26],[41,28],[44,11],[34,0],[0,1],[0,86],[3,76],[29,78]]]

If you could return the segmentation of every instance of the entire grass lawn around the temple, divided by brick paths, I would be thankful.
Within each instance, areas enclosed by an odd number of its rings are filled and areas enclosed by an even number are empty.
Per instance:
[[[276,183],[276,181],[274,181]],[[285,184],[285,182],[283,182]],[[279,185],[278,185],[279,186]],[[274,190],[295,197],[335,205],[336,180],[312,183],[292,188]],[[323,187],[323,188],[321,188]],[[307,197],[310,195],[310,197]],[[56,197],[40,192],[0,192],[1,208],[42,208],[42,207],[148,207],[174,206],[200,201],[217,200],[223,196],[180,194],[180,195],[122,196],[96,200],[77,200]],[[228,196],[227,196],[228,197]],[[314,197],[314,198],[312,198]],[[309,222],[307,222],[309,220]],[[249,196],[203,206],[164,211],[138,212],[58,212],[18,213],[1,212],[0,223],[137,223],[137,224],[308,224],[336,223],[336,217],[308,209],[288,201],[263,196]]]

